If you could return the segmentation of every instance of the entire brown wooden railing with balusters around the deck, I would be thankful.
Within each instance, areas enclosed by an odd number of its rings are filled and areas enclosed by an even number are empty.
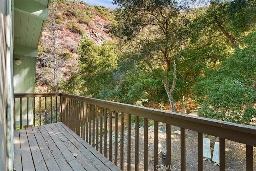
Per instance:
[[[164,127],[166,127],[166,169],[173,169],[170,167],[172,141],[171,125],[180,127],[181,170],[186,170],[186,129],[197,132],[197,137],[195,138],[197,138],[198,143],[198,154],[195,155],[198,157],[198,170],[201,171],[204,169],[204,134],[219,137],[220,170],[226,169],[226,139],[246,144],[246,170],[250,171],[255,169],[253,151],[256,147],[256,128],[253,126],[64,93],[14,94],[14,97],[14,104],[17,103],[17,98],[20,99],[20,113],[22,113],[22,98],[27,99],[27,119],[29,113],[28,98],[32,97],[34,99],[32,101],[34,120],[35,116],[38,115],[40,118],[41,115],[43,115],[44,118],[47,118],[48,115],[52,118],[52,115],[54,115],[54,121],[59,121],[58,116],[60,116],[60,121],[86,140],[90,145],[95,147],[100,153],[104,154],[105,157],[108,157],[110,161],[118,165],[122,170],[139,170],[139,161],[142,157],[144,158],[144,170],[148,170],[148,123],[152,122],[154,123],[154,170],[159,170],[160,165],[158,163],[158,125],[160,123],[164,124]],[[35,104],[35,97],[40,98],[38,101],[39,105]],[[56,99],[54,107],[51,105],[52,97]],[[44,107],[42,108],[40,100],[43,98]],[[47,105],[49,102],[46,98],[50,98],[50,110]],[[39,106],[39,113],[35,112],[36,106]],[[52,108],[55,108],[55,113],[49,114],[50,111],[52,112]],[[42,109],[44,109],[44,112],[41,111]],[[14,113],[14,118],[16,117],[15,115],[17,115],[17,113]],[[134,118],[135,140],[131,140],[132,131],[134,131],[131,129],[131,125]],[[49,122],[46,120],[47,119],[45,119],[44,124]],[[41,121],[42,120],[39,121],[39,124],[41,124]],[[52,121],[53,119],[50,119],[50,122]],[[142,124],[144,123],[143,137],[140,135],[141,122]],[[20,125],[22,125],[22,122],[20,122]],[[28,121],[27,125],[29,125]],[[35,125],[35,121],[32,125]],[[17,125],[14,125],[14,127],[17,127]],[[143,151],[139,150],[140,146],[144,146]],[[135,148],[135,152],[131,153],[131,148],[133,147]],[[124,165],[124,163],[126,163],[126,165]]]

